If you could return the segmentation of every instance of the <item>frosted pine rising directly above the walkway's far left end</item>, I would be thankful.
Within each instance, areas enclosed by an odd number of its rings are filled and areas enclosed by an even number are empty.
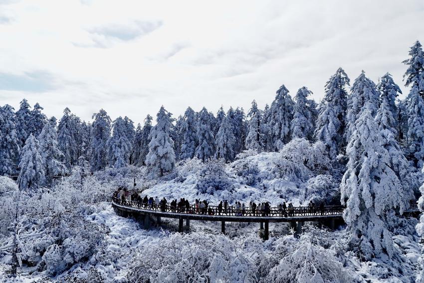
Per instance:
[[[131,141],[128,140],[127,123],[119,116],[112,123],[112,136],[108,139],[109,166],[122,168],[128,166],[130,161]]]

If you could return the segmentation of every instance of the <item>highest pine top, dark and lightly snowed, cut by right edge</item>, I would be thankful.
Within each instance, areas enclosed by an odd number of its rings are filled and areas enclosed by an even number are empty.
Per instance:
[[[402,63],[408,65],[408,69],[404,74],[405,85],[412,87],[417,86],[418,92],[424,98],[424,52],[420,41],[416,41],[409,51],[411,56]]]

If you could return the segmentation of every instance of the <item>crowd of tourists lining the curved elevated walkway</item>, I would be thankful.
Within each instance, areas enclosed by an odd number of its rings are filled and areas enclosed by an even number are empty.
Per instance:
[[[130,192],[123,188],[115,192],[114,197],[118,199],[121,204],[128,205],[131,203],[132,206],[136,206],[140,209],[149,209],[162,212],[174,212],[174,213],[188,213],[188,214],[201,214],[201,215],[233,215],[233,216],[281,216],[281,217],[292,217],[296,215],[324,215],[326,210],[324,203],[321,202],[316,206],[313,202],[309,202],[307,207],[294,207],[292,203],[286,204],[283,202],[279,204],[277,208],[270,207],[268,202],[256,204],[255,202],[249,202],[248,205],[244,203],[235,202],[234,205],[229,205],[228,202],[220,201],[217,206],[210,206],[206,200],[195,200],[194,204],[190,204],[189,200],[181,198],[168,202],[164,197],[159,199],[158,197],[148,197],[147,195],[143,198],[137,192]]]

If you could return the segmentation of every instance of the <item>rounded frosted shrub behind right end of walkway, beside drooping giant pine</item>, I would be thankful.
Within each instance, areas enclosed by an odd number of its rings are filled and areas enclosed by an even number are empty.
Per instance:
[[[305,201],[315,204],[340,202],[339,183],[331,175],[318,175],[306,183]]]

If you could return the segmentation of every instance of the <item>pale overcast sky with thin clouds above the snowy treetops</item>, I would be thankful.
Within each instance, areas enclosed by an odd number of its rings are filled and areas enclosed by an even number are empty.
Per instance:
[[[317,101],[341,66],[404,93],[409,47],[424,43],[424,1],[0,0],[0,104],[26,98],[136,123],[163,104],[216,113],[262,108],[285,84]]]

